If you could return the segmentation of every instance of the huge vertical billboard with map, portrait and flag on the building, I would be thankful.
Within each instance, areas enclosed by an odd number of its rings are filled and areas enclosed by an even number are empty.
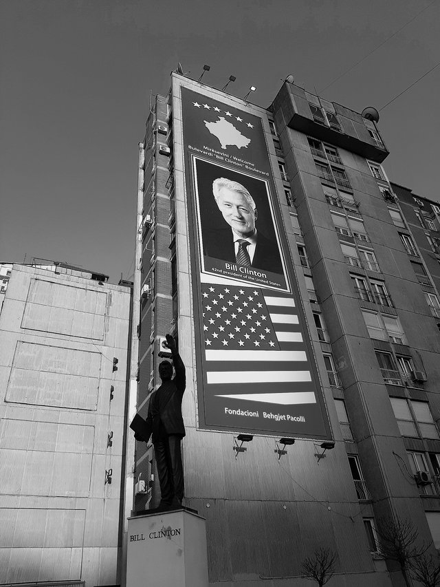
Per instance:
[[[330,438],[263,121],[179,91],[199,427]]]

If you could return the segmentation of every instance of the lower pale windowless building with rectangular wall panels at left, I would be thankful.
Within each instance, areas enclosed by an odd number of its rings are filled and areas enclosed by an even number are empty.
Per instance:
[[[0,584],[118,584],[132,288],[41,259],[0,275]]]

